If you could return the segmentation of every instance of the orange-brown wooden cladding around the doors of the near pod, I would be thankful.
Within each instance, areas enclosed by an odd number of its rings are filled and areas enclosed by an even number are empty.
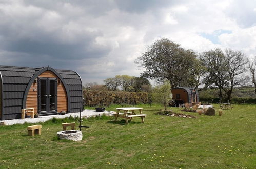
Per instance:
[[[57,112],[67,111],[68,110],[68,99],[67,92],[64,88],[60,79],[52,72],[45,71],[38,77],[46,77],[46,78],[57,78]],[[34,108],[35,113],[38,112],[38,97],[37,97],[37,82],[32,83],[27,100],[26,100],[26,108]]]

